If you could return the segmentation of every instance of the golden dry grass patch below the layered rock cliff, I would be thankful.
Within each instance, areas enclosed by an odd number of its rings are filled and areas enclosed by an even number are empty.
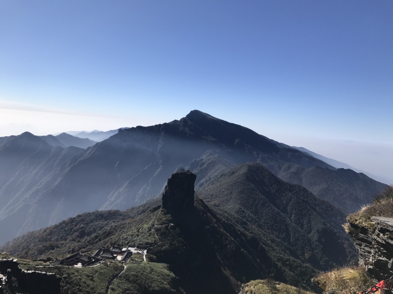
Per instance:
[[[354,294],[374,285],[364,267],[346,267],[318,275],[313,279],[326,294]]]

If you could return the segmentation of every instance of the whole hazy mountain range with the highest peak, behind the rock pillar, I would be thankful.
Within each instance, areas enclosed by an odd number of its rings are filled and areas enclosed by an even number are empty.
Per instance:
[[[9,240],[5,236],[86,211],[139,205],[162,192],[168,175],[180,167],[197,174],[196,188],[202,189],[210,178],[236,165],[262,163],[275,176],[347,211],[357,210],[386,187],[197,110],[169,123],[119,129],[92,147],[75,148],[51,147],[26,133],[0,147],[0,199],[5,201],[0,243]],[[10,223],[13,235],[3,234]]]

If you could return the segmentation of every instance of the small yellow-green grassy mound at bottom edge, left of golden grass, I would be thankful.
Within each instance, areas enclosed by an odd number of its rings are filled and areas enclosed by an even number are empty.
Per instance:
[[[315,294],[271,279],[250,281],[243,287],[244,294]]]

